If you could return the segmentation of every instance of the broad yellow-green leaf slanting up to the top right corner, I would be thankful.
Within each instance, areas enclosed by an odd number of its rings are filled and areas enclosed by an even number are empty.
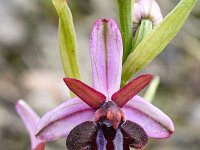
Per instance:
[[[123,65],[123,82],[127,82],[167,46],[183,26],[196,2],[197,0],[181,0],[161,24],[142,40]]]

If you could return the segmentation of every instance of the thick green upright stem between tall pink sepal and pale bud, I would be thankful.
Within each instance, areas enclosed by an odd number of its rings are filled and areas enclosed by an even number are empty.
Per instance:
[[[123,62],[132,49],[132,6],[134,0],[117,0],[123,41]]]

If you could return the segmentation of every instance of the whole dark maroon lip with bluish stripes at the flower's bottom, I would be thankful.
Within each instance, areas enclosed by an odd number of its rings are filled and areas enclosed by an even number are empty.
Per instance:
[[[68,150],[130,150],[141,149],[148,142],[144,129],[131,121],[114,129],[111,123],[102,118],[96,126],[87,121],[75,127],[67,137]]]

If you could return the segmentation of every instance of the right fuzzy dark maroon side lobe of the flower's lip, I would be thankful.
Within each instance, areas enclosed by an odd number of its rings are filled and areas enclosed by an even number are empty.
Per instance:
[[[129,120],[122,125],[121,132],[124,137],[124,150],[129,150],[129,146],[141,149],[148,142],[148,136],[144,129]]]

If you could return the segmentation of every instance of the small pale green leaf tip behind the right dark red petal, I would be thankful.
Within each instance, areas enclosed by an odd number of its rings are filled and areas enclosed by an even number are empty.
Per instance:
[[[149,102],[152,102],[152,100],[154,99],[154,96],[156,94],[156,91],[158,89],[158,85],[160,83],[160,77],[159,76],[156,76],[150,83],[145,95],[144,95],[144,98],[146,100],[148,100]]]

